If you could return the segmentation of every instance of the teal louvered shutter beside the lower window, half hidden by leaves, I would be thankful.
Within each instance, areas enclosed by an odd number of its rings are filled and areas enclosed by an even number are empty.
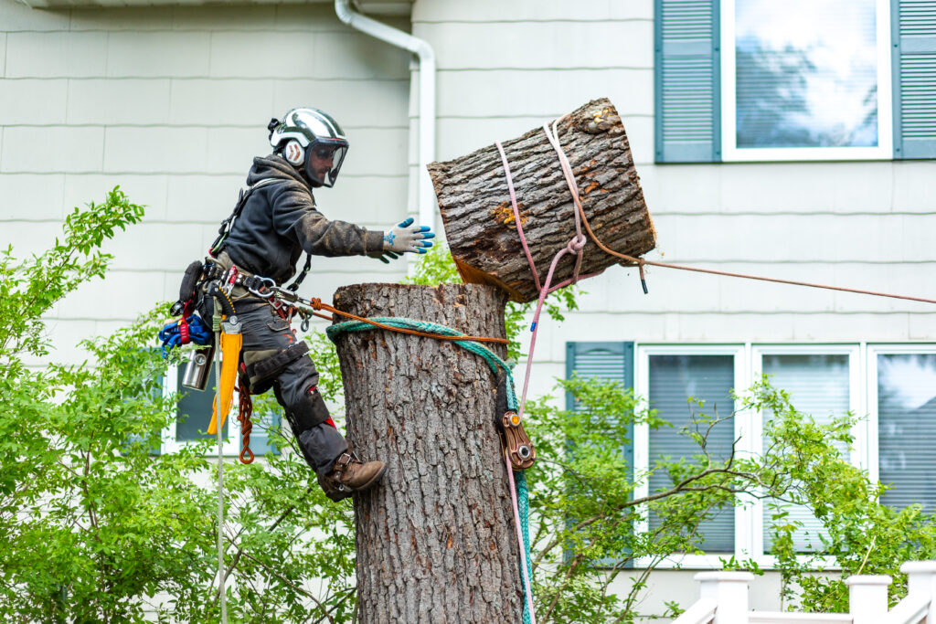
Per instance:
[[[634,387],[634,342],[566,342],[565,343],[565,378],[578,374],[581,379],[607,379],[618,382],[625,388]],[[571,394],[565,394],[565,409],[576,410],[578,405]],[[634,428],[627,432],[628,440],[634,439]],[[534,441],[535,443],[535,441]],[[634,466],[634,450],[624,448],[624,457]],[[571,553],[566,554],[568,557]],[[628,561],[619,566],[619,561],[629,558],[630,552],[623,550],[621,557],[608,557],[597,561],[597,565],[607,567],[633,567]]]

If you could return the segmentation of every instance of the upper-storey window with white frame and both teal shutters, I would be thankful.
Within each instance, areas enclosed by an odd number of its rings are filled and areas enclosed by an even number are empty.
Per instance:
[[[936,0],[656,0],[657,162],[936,157]]]

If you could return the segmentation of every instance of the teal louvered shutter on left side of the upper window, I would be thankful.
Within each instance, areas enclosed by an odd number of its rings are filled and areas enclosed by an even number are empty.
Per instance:
[[[656,0],[656,162],[722,160],[719,0]]]

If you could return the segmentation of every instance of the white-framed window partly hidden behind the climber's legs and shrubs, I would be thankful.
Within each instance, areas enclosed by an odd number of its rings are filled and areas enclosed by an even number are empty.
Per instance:
[[[208,383],[205,390],[199,392],[193,388],[182,385],[185,364],[179,367],[169,367],[166,378],[163,381],[163,391],[168,394],[180,395],[177,404],[176,422],[163,430],[163,451],[171,453],[182,448],[186,443],[192,443],[199,440],[214,440],[214,435],[205,433],[208,425],[212,421],[212,403],[214,401],[215,376],[214,368],[208,377]],[[238,394],[234,390],[234,399],[231,403],[231,414],[227,415],[224,427],[221,428],[222,436],[225,438],[223,444],[224,454],[227,456],[237,456],[241,452],[241,424],[237,420]],[[250,434],[250,448],[256,455],[261,457],[267,453],[278,453],[275,446],[271,444],[268,430],[276,427],[281,422],[281,415],[264,414],[259,424],[256,423]]]

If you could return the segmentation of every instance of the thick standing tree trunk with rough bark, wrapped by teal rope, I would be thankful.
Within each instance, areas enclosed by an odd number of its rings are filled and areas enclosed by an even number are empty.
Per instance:
[[[505,296],[488,286],[355,284],[334,301],[358,316],[505,337]],[[362,624],[519,622],[519,553],[488,365],[451,341],[382,329],[342,334],[338,355],[349,442],[388,465],[381,486],[355,497]]]

